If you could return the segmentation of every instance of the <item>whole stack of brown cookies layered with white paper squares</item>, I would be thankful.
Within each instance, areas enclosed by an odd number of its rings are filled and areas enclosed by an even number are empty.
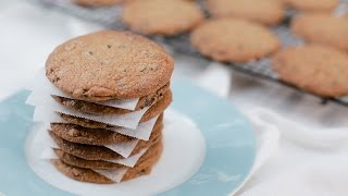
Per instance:
[[[52,100],[63,108],[54,108],[60,121],[49,130],[55,168],[91,183],[150,173],[162,151],[173,69],[162,47],[132,33],[103,30],[55,48],[46,63],[61,93]]]

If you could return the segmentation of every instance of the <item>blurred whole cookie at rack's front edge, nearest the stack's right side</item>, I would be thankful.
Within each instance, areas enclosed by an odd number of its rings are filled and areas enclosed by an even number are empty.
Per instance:
[[[279,48],[270,29],[239,19],[210,20],[192,32],[190,41],[202,54],[223,62],[248,62]]]

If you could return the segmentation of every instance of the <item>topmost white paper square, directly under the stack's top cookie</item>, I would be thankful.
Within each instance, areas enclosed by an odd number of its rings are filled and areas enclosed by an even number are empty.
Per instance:
[[[66,95],[65,93],[58,89],[52,83],[50,83],[48,81],[48,78],[46,77],[44,68],[40,69],[40,71],[38,72],[38,74],[36,75],[35,78],[36,78],[36,81],[34,81],[33,85],[28,87],[30,90],[35,91],[35,94],[32,94],[29,96],[29,99],[33,98],[33,100],[38,101],[40,99],[39,96],[41,96],[41,95],[46,95],[46,96],[55,95],[55,96],[60,96],[60,97],[74,99],[70,95]],[[98,105],[113,107],[113,108],[135,110],[136,106],[138,105],[138,101],[139,101],[139,98],[122,99],[122,100],[108,100],[108,101],[94,101],[94,102],[98,103]]]

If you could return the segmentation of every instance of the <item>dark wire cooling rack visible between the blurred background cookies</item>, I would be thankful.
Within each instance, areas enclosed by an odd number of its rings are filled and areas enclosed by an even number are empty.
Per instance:
[[[107,28],[112,29],[126,29],[126,27],[121,22],[121,7],[108,7],[108,8],[84,8],[76,5],[72,3],[70,0],[32,0],[34,3],[37,3],[39,5],[42,5],[47,9],[58,10],[61,12],[65,12],[70,15],[74,15],[76,17],[79,17],[82,20],[86,20],[89,22],[98,23],[99,25],[103,25]],[[199,1],[200,5],[202,5],[202,1]],[[337,13],[345,13],[348,11],[348,0],[341,0],[341,3],[339,4],[337,9]],[[287,17],[284,21],[283,24],[279,26],[273,27],[272,30],[279,37],[283,46],[297,46],[302,44],[300,39],[295,37],[288,29],[288,24],[290,21],[291,11],[287,12]],[[154,39],[156,41],[163,42],[165,45],[171,46],[175,51],[189,54],[192,57],[201,58],[207,61],[210,61],[208,58],[201,56],[195,48],[191,47],[189,41],[189,35],[188,34],[182,34],[173,37],[160,37],[160,36],[151,36],[151,39]],[[310,94],[314,97],[318,97],[322,100],[322,103],[326,103],[328,101],[348,107],[348,97],[341,97],[341,98],[325,98],[320,97],[318,95],[303,91],[296,86],[293,86],[288,83],[285,83],[283,81],[279,81],[276,73],[272,71],[270,66],[270,59],[261,59],[258,61],[252,61],[248,63],[243,64],[236,64],[236,63],[229,63],[226,64],[231,69],[254,76],[262,79],[271,81],[274,83],[278,83],[281,85],[294,88],[296,90],[300,90],[303,94]]]

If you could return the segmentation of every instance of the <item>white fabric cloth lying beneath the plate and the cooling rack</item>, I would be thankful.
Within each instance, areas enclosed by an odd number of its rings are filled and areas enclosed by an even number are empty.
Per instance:
[[[35,75],[69,37],[98,26],[18,1],[0,1],[0,99]],[[4,27],[5,26],[5,27]],[[227,97],[252,122],[258,159],[237,195],[347,195],[348,108],[202,60],[175,54],[176,77],[189,77]],[[21,78],[21,79],[18,79]],[[212,88],[213,87],[213,88]]]

